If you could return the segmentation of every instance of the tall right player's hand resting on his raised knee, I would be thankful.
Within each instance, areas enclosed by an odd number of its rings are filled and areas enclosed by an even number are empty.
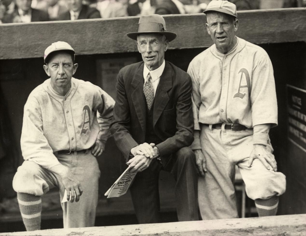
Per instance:
[[[266,147],[261,144],[254,144],[253,151],[251,152],[250,159],[248,162],[248,167],[252,166],[253,160],[258,158],[263,165],[268,169],[277,170],[276,161],[274,155],[270,152],[267,152]]]

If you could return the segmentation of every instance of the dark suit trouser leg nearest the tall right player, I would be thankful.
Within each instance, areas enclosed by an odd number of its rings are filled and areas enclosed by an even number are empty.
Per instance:
[[[174,176],[177,218],[179,221],[199,220],[197,200],[197,168],[195,154],[184,147],[170,156],[166,171]]]

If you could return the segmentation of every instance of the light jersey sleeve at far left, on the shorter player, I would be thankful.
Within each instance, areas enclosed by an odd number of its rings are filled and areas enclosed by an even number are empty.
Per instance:
[[[44,136],[40,104],[34,97],[29,97],[24,105],[21,151],[25,160],[35,162],[43,168],[49,169],[60,164]]]

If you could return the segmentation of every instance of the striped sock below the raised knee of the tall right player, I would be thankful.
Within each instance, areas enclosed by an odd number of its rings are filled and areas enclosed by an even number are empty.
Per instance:
[[[255,199],[255,205],[259,216],[276,215],[278,207],[278,196],[269,199]]]

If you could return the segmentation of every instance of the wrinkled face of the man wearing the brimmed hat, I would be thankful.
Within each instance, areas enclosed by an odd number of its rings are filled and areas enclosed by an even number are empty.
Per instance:
[[[137,36],[137,48],[149,70],[162,65],[169,41],[161,34],[141,34]]]

